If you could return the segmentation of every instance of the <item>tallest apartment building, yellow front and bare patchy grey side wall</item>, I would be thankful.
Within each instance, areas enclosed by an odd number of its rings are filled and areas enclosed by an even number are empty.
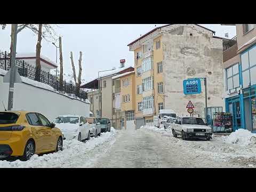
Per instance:
[[[153,122],[160,109],[173,109],[178,115],[189,115],[189,100],[194,115],[204,117],[205,93],[183,94],[187,78],[207,78],[207,105],[224,107],[222,38],[196,24],[174,24],[157,27],[128,46],[134,52],[136,109],[135,117]]]

